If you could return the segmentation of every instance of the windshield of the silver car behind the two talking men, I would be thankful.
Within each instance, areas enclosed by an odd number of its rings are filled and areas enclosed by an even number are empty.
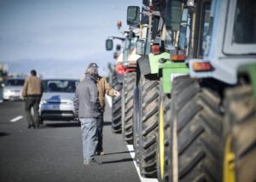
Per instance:
[[[44,80],[44,92],[74,93],[78,80]]]

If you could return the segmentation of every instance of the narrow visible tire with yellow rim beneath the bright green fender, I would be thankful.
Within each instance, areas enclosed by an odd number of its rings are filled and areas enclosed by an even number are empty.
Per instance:
[[[168,163],[168,154],[170,145],[168,136],[171,133],[171,94],[164,94],[162,85],[160,85],[160,105],[159,105],[159,124],[157,134],[157,178],[159,182],[169,181],[170,166]]]

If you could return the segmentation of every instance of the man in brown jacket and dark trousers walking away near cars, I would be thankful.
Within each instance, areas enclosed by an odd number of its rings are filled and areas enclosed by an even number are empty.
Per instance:
[[[25,99],[25,111],[26,120],[28,123],[27,128],[38,128],[39,122],[39,103],[43,94],[43,84],[39,77],[37,77],[37,71],[32,70],[31,77],[26,78],[24,87],[22,90],[22,96]],[[33,108],[34,118],[31,114]]]

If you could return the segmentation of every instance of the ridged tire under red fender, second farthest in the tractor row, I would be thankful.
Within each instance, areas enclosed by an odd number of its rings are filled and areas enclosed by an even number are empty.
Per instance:
[[[133,121],[133,89],[136,84],[136,72],[127,72],[124,76],[123,82],[123,98],[122,108],[123,115],[122,115],[122,133],[125,144],[132,144],[133,143],[133,128],[132,128],[132,121]]]

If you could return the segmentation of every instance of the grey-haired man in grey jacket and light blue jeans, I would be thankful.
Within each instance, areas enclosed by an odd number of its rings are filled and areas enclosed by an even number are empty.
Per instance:
[[[74,109],[81,122],[84,165],[100,164],[95,160],[98,144],[96,120],[102,110],[98,101],[96,75],[97,70],[95,68],[89,67],[86,70],[85,78],[79,82],[74,98]]]

